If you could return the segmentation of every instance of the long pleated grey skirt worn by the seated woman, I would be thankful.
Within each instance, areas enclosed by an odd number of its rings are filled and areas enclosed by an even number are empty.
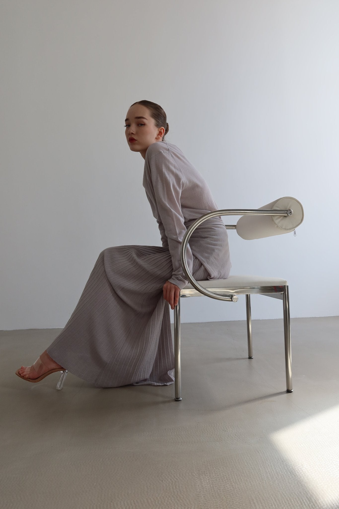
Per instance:
[[[104,249],[64,329],[46,349],[70,373],[96,387],[170,385],[174,350],[163,286],[173,272],[169,249]],[[192,274],[207,269],[193,257]]]

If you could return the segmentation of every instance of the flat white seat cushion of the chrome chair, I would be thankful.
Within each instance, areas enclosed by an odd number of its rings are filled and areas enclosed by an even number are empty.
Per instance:
[[[286,279],[280,277],[267,276],[229,276],[227,279],[207,279],[207,281],[198,281],[203,288],[247,288],[257,286],[284,286],[287,285]],[[183,288],[189,290],[194,288],[190,283]]]

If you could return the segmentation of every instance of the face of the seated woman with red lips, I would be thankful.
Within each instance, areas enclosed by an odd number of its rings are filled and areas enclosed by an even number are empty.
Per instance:
[[[136,118],[142,117],[142,118]],[[146,150],[152,143],[161,142],[165,134],[164,127],[156,127],[149,110],[142,104],[134,104],[127,112],[125,121],[127,143],[133,152],[140,152],[145,158]],[[136,141],[130,141],[130,138]]]

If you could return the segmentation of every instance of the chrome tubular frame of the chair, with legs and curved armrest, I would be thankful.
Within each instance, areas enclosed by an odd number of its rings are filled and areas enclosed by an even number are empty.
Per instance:
[[[180,261],[182,269],[187,279],[193,286],[193,289],[182,289],[179,293],[179,299],[176,306],[174,306],[174,378],[175,378],[175,401],[181,401],[181,334],[180,334],[180,298],[181,297],[201,297],[205,295],[217,300],[225,300],[228,302],[237,302],[238,295],[246,295],[246,322],[247,322],[247,339],[248,339],[248,352],[249,359],[253,359],[252,347],[252,317],[251,317],[251,295],[259,294],[267,297],[274,297],[283,301],[284,311],[284,338],[285,338],[285,370],[286,370],[286,392],[293,392],[292,387],[292,358],[291,358],[291,327],[290,327],[290,300],[289,300],[289,287],[283,286],[253,286],[242,288],[203,288],[194,279],[187,264],[186,250],[190,237],[198,226],[215,216],[230,216],[230,215],[280,215],[290,216],[293,210],[271,210],[271,209],[222,209],[209,212],[199,217],[194,223],[190,225],[187,232],[183,236],[180,248]],[[225,224],[226,229],[235,230],[235,224]],[[214,293],[211,290],[217,290]]]

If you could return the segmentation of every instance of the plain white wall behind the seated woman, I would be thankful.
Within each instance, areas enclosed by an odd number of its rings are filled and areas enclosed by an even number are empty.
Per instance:
[[[141,99],[220,209],[303,204],[296,237],[229,232],[232,273],[286,278],[292,317],[338,315],[338,26],[337,0],[3,0],[0,328],[64,327],[100,251],[161,245],[125,138]],[[182,322],[244,318],[244,297],[182,300]]]

